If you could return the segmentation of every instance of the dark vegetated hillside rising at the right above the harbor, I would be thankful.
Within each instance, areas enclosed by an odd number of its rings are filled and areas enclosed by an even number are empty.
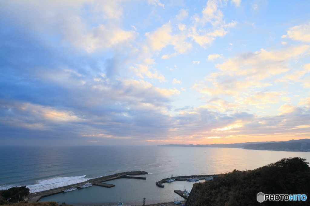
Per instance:
[[[220,174],[212,181],[194,184],[200,191],[195,206],[207,205],[310,205],[310,168],[306,159],[284,158],[255,170],[233,170]],[[256,195],[306,194],[303,201],[264,201],[259,203]]]

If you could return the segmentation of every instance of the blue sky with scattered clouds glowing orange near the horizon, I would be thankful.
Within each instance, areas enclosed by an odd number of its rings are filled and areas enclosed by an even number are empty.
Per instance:
[[[0,0],[2,145],[310,137],[308,0]]]

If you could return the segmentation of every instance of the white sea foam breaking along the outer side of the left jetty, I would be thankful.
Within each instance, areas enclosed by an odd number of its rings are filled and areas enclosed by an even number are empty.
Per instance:
[[[86,175],[78,177],[56,177],[51,179],[44,179],[39,180],[38,183],[35,185],[28,185],[27,187],[29,188],[30,193],[39,192],[88,181],[88,179],[85,177]]]

